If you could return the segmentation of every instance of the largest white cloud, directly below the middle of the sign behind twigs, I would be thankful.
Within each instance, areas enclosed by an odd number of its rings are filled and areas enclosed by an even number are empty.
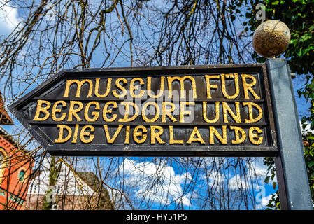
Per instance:
[[[169,204],[173,201],[190,204],[190,194],[181,185],[192,177],[190,173],[176,174],[165,162],[136,162],[125,159],[118,168],[124,172],[124,183],[134,189],[135,196],[146,201]]]

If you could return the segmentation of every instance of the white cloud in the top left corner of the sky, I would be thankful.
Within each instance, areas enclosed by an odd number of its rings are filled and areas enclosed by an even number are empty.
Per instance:
[[[6,1],[0,0],[0,33],[9,34],[19,22],[17,8],[13,8]]]

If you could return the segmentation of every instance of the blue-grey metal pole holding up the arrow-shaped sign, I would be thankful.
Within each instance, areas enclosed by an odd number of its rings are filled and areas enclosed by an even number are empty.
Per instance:
[[[275,158],[282,209],[313,210],[301,128],[286,59],[267,59],[279,155]]]

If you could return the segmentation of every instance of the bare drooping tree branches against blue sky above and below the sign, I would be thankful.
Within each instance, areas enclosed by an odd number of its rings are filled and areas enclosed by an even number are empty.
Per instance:
[[[243,1],[11,0],[8,5],[19,10],[20,22],[0,44],[1,90],[7,105],[66,68],[250,59],[241,17]],[[19,127],[13,134],[22,131]],[[74,164],[87,162],[94,169],[115,209],[257,206],[255,158],[67,159]]]

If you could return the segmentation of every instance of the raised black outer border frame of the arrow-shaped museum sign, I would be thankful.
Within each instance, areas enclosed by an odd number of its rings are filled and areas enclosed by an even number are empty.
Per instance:
[[[152,145],[132,145],[132,146],[106,146],[107,150],[103,150],[104,146],[71,146],[71,148],[65,148],[64,145],[48,144],[45,139],[45,134],[39,130],[38,126],[31,127],[29,124],[29,118],[24,115],[19,109],[30,100],[34,99],[37,94],[47,90],[53,84],[64,79],[66,76],[74,76],[80,73],[84,73],[88,76],[88,73],[101,73],[104,76],[116,76],[123,72],[123,76],[132,76],[136,74],[137,77],[149,76],[152,73],[158,72],[170,72],[169,75],[174,74],[197,74],[197,73],[230,73],[236,72],[236,70],[249,70],[262,74],[260,80],[264,80],[260,83],[262,92],[266,101],[266,110],[269,118],[269,129],[271,134],[272,146],[152,146]],[[207,70],[207,71],[206,71]],[[273,117],[273,106],[271,103],[271,92],[269,85],[269,73],[266,69],[266,64],[221,64],[221,65],[204,65],[204,66],[143,66],[143,67],[120,67],[120,68],[105,68],[105,69],[63,69],[59,71],[55,76],[48,79],[41,85],[38,85],[34,90],[24,95],[17,102],[9,106],[10,111],[20,123],[34,136],[36,140],[50,153],[50,155],[69,155],[69,156],[241,156],[241,157],[262,157],[262,156],[276,156],[278,155],[276,127]],[[167,125],[167,124],[165,124]],[[267,134],[267,133],[266,133]],[[166,149],[169,148],[169,149]]]

